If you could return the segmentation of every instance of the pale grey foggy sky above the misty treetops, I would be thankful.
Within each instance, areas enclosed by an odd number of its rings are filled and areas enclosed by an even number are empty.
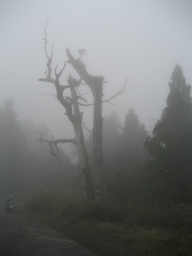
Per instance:
[[[86,49],[87,71],[107,81],[104,99],[128,78],[128,92],[113,99],[114,105],[105,103],[103,116],[116,111],[123,124],[133,108],[148,128],[166,105],[176,63],[192,84],[192,0],[0,0],[0,106],[13,97],[21,122],[43,124],[55,139],[71,137],[72,125],[53,96],[38,94],[54,94],[52,84],[38,81],[47,64],[41,26],[47,17],[53,65],[61,68],[67,60],[65,47],[75,58]],[[62,84],[67,72],[79,78],[67,67]],[[84,121],[92,129],[91,117]]]

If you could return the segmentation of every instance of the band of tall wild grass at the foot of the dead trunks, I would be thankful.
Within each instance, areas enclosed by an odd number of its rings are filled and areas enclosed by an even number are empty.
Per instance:
[[[192,209],[169,202],[151,202],[132,197],[119,201],[106,196],[97,201],[84,200],[78,193],[38,189],[26,203],[29,211],[46,212],[66,223],[79,220],[124,222],[148,227],[192,227]]]

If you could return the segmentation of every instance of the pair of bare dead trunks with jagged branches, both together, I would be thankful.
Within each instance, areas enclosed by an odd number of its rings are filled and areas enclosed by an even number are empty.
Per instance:
[[[47,21],[48,22],[48,21]],[[79,74],[80,79],[77,81],[73,78],[73,76],[68,76],[67,82],[68,85],[61,85],[60,77],[63,73],[64,67],[61,69],[59,73],[57,73],[57,66],[55,67],[55,73],[53,77],[52,74],[52,57],[53,57],[53,45],[52,50],[50,53],[47,51],[47,24],[44,28],[45,37],[44,37],[44,49],[45,54],[48,59],[47,67],[48,70],[46,71],[47,77],[45,79],[39,79],[39,81],[50,82],[54,84],[56,90],[56,96],[58,101],[66,110],[66,115],[68,116],[69,120],[72,122],[73,129],[75,132],[74,139],[60,139],[54,141],[47,141],[43,140],[42,137],[40,141],[46,141],[49,143],[52,154],[57,157],[57,154],[54,153],[53,145],[57,148],[58,143],[74,143],[77,145],[79,151],[79,167],[81,169],[81,177],[84,189],[84,197],[93,197],[93,186],[92,180],[90,175],[90,167],[87,158],[87,151],[85,148],[84,143],[84,134],[82,128],[82,119],[83,113],[79,111],[79,106],[89,106],[94,105],[93,109],[93,163],[94,163],[94,192],[96,196],[99,196],[106,189],[106,178],[105,178],[105,162],[104,162],[104,155],[103,155],[103,148],[102,148],[102,102],[108,102],[110,99],[102,101],[102,88],[104,83],[104,77],[102,76],[90,76],[86,70],[84,63],[81,61],[82,55],[85,53],[85,50],[79,50],[80,57],[78,59],[74,59],[70,53],[70,50],[67,48],[67,57],[69,60],[67,61],[70,63],[76,72]],[[89,87],[93,94],[94,102],[93,104],[86,104],[86,99],[81,96],[79,86],[81,81],[84,81]],[[116,96],[119,96],[125,93],[125,85],[122,89],[116,93],[111,99]],[[70,96],[64,94],[65,89],[70,89]],[[80,100],[83,100],[85,104],[82,104]]]

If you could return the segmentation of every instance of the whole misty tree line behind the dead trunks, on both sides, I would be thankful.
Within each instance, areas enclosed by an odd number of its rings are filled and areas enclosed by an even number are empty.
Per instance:
[[[177,64],[169,82],[169,95],[161,118],[152,132],[146,130],[130,109],[124,125],[115,112],[102,122],[106,193],[124,199],[143,195],[151,200],[192,201],[192,98],[182,68]],[[1,194],[26,193],[41,186],[80,189],[83,183],[80,163],[72,163],[62,149],[63,166],[52,158],[48,144],[35,143],[31,122],[21,125],[14,111],[14,100],[7,99],[0,108],[0,188]],[[42,132],[43,133],[43,132]],[[41,133],[41,134],[42,134]],[[38,140],[40,140],[38,138]],[[43,139],[42,139],[43,140]],[[54,137],[44,134],[44,141]],[[41,140],[40,140],[41,142]],[[94,180],[94,156],[91,154],[93,131],[85,140]]]

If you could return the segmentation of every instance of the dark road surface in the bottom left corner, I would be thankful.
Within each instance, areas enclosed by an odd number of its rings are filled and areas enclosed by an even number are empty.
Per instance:
[[[96,256],[40,221],[4,211],[0,211],[0,255]]]

